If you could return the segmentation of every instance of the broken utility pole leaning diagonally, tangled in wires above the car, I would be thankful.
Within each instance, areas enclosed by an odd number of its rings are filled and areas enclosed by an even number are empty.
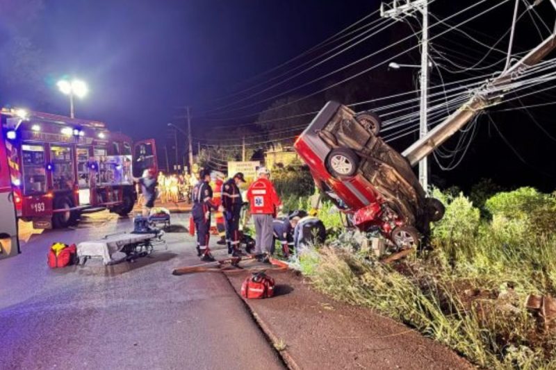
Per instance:
[[[556,3],[553,3],[556,8]],[[482,90],[471,96],[458,110],[450,117],[446,118],[441,124],[434,127],[425,137],[421,138],[413,145],[405,149],[402,153],[411,166],[416,165],[420,160],[432,153],[434,149],[441,146],[452,135],[471,121],[480,111],[491,105],[493,99],[500,99],[502,92],[495,94],[489,93],[490,87],[499,87],[518,78],[523,72],[540,62],[550,51],[556,49],[556,30],[553,35],[546,38],[538,47],[532,49],[526,56],[521,58],[516,64],[506,69],[500,76],[486,83]]]

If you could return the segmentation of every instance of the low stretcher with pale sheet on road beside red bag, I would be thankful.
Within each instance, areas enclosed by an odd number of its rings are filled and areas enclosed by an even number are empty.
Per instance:
[[[77,244],[77,257],[80,264],[92,258],[101,259],[104,265],[116,264],[145,257],[155,246],[166,246],[162,239],[164,232],[152,229],[152,233],[117,233],[106,235],[101,239]]]

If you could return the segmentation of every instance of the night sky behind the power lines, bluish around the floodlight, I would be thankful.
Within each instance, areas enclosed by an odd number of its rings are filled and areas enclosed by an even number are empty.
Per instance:
[[[431,8],[446,16],[471,3],[474,1],[437,0]],[[469,28],[486,34],[482,40],[491,44],[489,37],[500,37],[509,27],[512,3]],[[543,9],[550,10],[548,3],[541,4]],[[105,121],[112,130],[136,139],[161,139],[167,122],[186,127],[185,121],[177,118],[183,113],[180,106],[192,106],[194,117],[196,112],[214,108],[212,99],[245,87],[248,78],[293,58],[378,6],[375,0],[0,0],[0,103],[67,115],[67,97],[55,84],[64,75],[76,76],[90,85],[89,96],[76,102],[76,117]],[[542,14],[552,26],[554,14]],[[521,50],[540,40],[534,28],[518,31],[516,47]],[[408,34],[409,27],[400,24],[322,71],[329,72]],[[480,37],[478,33],[475,36]],[[442,41],[446,46],[449,42]],[[459,42],[466,43],[461,38]],[[471,60],[479,60],[485,50],[469,46],[477,49],[475,55],[473,50],[462,51]],[[500,47],[506,48],[507,42]],[[418,53],[409,53],[402,62],[414,60]],[[315,76],[318,73],[315,71]],[[411,72],[392,76],[383,67],[377,73],[393,85],[384,87],[386,90],[412,88]],[[433,76],[433,83],[439,83],[438,77]],[[452,81],[450,76],[443,77]],[[296,93],[306,94],[311,88]],[[543,96],[527,103],[550,99],[556,100]],[[544,130],[556,137],[553,110],[531,112]],[[433,166],[441,183],[465,188],[491,177],[508,187],[534,185],[554,190],[553,138],[521,111],[491,117],[521,159],[488,119],[481,119],[477,137],[455,171],[443,172]],[[199,131],[211,123],[195,118],[194,135],[201,136]],[[398,149],[404,149],[404,144]]]

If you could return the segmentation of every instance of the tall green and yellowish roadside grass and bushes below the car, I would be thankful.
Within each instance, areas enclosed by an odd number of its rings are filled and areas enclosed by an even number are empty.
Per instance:
[[[462,194],[436,195],[447,210],[432,251],[386,266],[341,239],[302,254],[297,267],[329,296],[407,323],[479,367],[556,369],[556,337],[523,304],[528,294],[556,296],[554,196],[498,194],[486,219]]]

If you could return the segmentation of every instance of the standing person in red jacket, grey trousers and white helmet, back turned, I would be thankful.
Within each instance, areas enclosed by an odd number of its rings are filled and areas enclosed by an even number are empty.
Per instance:
[[[257,174],[259,178],[247,190],[247,201],[255,224],[255,254],[259,255],[261,260],[268,260],[274,242],[272,221],[281,208],[281,200],[274,185],[268,179],[270,176],[268,169],[261,167]]]

